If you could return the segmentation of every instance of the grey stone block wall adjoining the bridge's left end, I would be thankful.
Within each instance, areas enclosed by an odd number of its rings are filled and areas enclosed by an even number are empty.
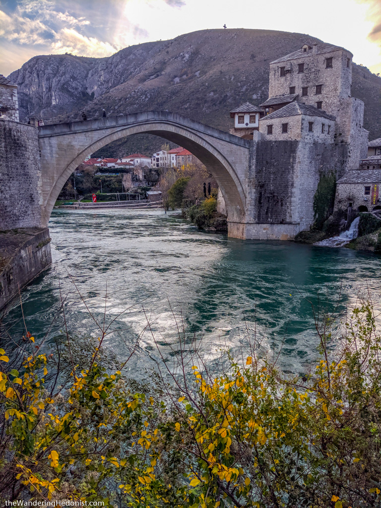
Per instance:
[[[0,230],[43,224],[38,129],[0,119]]]

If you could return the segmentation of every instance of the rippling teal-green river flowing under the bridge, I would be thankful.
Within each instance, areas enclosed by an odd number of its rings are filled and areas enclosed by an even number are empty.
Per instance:
[[[158,360],[155,341],[176,357],[175,318],[208,360],[221,348],[238,353],[249,335],[261,355],[303,372],[317,356],[308,300],[344,315],[369,291],[381,310],[381,258],[347,248],[230,239],[162,210],[54,210],[49,228],[53,265],[22,292],[28,330],[49,346],[64,329],[61,297],[73,335],[99,335],[89,312],[100,323],[105,315],[115,320],[105,344],[119,359],[140,335],[129,364],[136,376]],[[19,305],[4,324],[22,334]]]

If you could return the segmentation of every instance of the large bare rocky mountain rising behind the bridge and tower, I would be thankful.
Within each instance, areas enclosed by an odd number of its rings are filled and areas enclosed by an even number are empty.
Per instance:
[[[10,79],[19,86],[21,120],[79,119],[83,110],[91,118],[102,108],[110,115],[163,109],[227,130],[233,107],[267,99],[269,62],[314,41],[321,42],[274,30],[200,30],[107,58],[36,56]],[[365,102],[369,138],[378,137],[381,78],[354,65],[352,94]]]

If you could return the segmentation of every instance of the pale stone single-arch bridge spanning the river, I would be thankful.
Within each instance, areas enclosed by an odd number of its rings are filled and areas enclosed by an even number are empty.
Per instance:
[[[165,138],[198,157],[223,193],[228,220],[242,223],[249,142],[180,115],[148,112],[39,128],[46,224],[63,185],[89,153],[142,133]]]

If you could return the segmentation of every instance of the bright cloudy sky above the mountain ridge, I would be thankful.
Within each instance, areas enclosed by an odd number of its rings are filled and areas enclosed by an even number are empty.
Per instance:
[[[381,0],[0,0],[0,74],[35,55],[109,56],[224,24],[309,34],[381,73]]]

